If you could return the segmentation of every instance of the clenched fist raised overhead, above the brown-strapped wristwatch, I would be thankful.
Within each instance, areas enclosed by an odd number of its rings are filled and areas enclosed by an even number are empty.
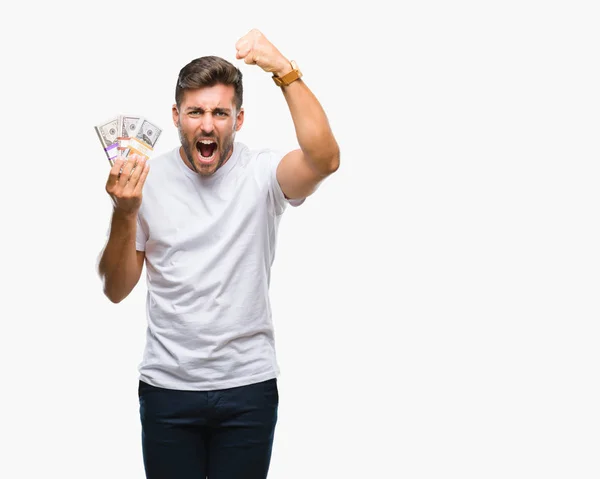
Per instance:
[[[283,76],[292,70],[289,60],[259,30],[250,30],[237,41],[235,49],[238,60],[258,65],[266,72]]]

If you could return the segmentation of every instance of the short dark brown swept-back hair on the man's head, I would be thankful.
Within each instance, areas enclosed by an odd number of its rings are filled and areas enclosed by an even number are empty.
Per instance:
[[[233,85],[235,90],[234,103],[236,110],[239,111],[242,107],[244,94],[242,72],[227,60],[212,55],[196,58],[179,71],[177,86],[175,87],[175,103],[179,108],[185,90],[219,84]]]

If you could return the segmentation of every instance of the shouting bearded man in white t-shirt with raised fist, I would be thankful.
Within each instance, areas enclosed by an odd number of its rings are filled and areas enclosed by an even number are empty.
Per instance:
[[[106,296],[127,297],[146,261],[138,393],[151,479],[267,476],[279,402],[268,293],[277,228],[287,204],[300,205],[339,166],[326,115],[295,63],[257,30],[236,50],[272,74],[300,148],[278,156],[235,142],[242,74],[202,57],[177,80],[181,146],[152,159],[151,174],[150,162],[117,159],[106,184]]]

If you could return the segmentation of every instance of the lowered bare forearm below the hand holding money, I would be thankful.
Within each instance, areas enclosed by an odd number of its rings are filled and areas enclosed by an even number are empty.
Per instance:
[[[140,278],[135,249],[136,215],[124,215],[115,210],[108,242],[98,264],[104,294],[114,303],[122,301]]]

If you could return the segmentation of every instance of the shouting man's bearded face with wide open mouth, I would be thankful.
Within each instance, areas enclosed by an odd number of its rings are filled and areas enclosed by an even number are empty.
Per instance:
[[[184,162],[202,176],[217,171],[233,153],[235,133],[244,110],[236,112],[232,85],[186,90],[181,105],[173,105]]]

